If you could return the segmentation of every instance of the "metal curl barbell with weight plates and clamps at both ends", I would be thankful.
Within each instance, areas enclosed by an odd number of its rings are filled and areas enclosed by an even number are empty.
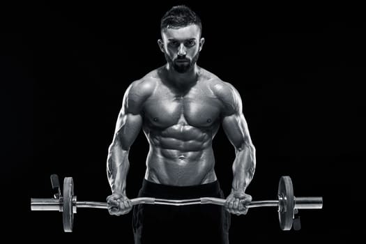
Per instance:
[[[59,177],[51,175],[52,188],[58,190],[53,198],[31,198],[31,211],[59,211],[63,215],[63,230],[73,231],[74,214],[77,208],[105,208],[107,203],[99,201],[77,201],[74,195],[73,177],[63,179],[63,194],[59,185]],[[162,204],[173,206],[186,206],[192,204],[216,204],[224,206],[226,199],[215,197],[201,197],[197,199],[157,199],[153,197],[137,197],[130,199],[132,206],[137,204]],[[298,209],[321,209],[323,208],[323,197],[294,197],[293,185],[289,176],[281,176],[278,183],[277,200],[251,201],[247,208],[263,206],[277,207],[280,228],[284,231],[300,229],[300,219],[295,218]]]

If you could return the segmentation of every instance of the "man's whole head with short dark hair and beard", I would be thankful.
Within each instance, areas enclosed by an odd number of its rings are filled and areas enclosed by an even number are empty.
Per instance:
[[[187,6],[174,6],[162,17],[160,31],[158,45],[169,66],[178,73],[194,67],[204,45],[199,16]]]

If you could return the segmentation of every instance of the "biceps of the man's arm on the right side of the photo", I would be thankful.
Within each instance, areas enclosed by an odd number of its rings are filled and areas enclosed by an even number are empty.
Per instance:
[[[222,128],[231,144],[236,148],[242,149],[243,146],[252,144],[247,122],[243,114],[232,114],[225,116],[222,120]]]

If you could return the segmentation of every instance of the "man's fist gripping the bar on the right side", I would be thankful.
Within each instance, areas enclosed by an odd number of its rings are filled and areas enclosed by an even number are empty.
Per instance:
[[[247,214],[247,204],[252,201],[252,196],[245,192],[231,192],[225,202],[225,208],[235,215]]]

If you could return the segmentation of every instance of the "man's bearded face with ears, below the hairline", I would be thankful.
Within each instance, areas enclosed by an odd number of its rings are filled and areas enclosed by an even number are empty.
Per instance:
[[[185,73],[192,68],[199,57],[204,38],[196,24],[190,24],[179,29],[165,29],[159,46],[165,54],[169,66],[178,73]]]

